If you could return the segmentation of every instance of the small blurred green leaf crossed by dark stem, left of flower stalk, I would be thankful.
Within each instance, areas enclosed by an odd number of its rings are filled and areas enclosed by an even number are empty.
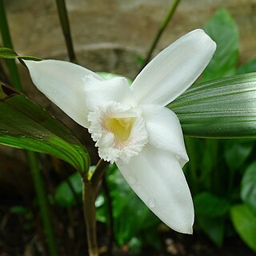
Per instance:
[[[70,185],[69,183],[70,182]],[[55,202],[60,206],[70,207],[76,204],[75,196],[82,198],[82,178],[78,172],[70,175],[68,182],[64,181],[55,190],[54,199]],[[73,187],[74,192],[71,190],[70,186]],[[75,195],[75,194],[76,195]]]

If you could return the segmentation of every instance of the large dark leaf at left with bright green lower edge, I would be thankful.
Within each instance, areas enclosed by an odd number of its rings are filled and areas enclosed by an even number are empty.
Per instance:
[[[88,170],[86,149],[62,122],[24,95],[8,93],[0,100],[0,144],[51,154],[80,172]]]

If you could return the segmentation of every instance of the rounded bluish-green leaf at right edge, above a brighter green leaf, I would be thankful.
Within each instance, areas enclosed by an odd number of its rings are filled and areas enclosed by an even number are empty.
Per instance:
[[[242,177],[241,198],[243,202],[254,209],[256,214],[256,161],[247,167]]]

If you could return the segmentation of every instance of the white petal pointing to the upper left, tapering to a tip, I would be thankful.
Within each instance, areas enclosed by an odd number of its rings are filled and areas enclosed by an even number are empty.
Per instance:
[[[88,127],[88,110],[86,110],[86,98],[83,92],[83,87],[86,86],[84,78],[90,77],[98,81],[102,78],[98,74],[70,62],[58,60],[24,62],[30,70],[30,76],[38,90],[75,122]]]

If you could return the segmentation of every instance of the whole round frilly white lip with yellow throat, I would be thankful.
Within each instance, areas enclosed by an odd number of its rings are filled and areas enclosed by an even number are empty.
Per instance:
[[[98,154],[106,161],[126,164],[148,142],[146,122],[139,108],[106,102],[91,111],[87,119]]]

